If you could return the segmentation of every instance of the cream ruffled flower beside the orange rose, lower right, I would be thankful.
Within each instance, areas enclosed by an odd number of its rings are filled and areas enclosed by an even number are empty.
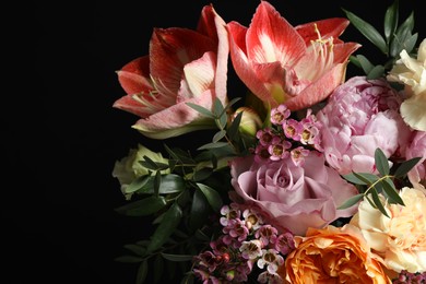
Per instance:
[[[404,205],[386,204],[390,217],[364,200],[351,224],[363,232],[374,252],[388,269],[411,273],[426,271],[426,196],[423,190],[404,187]],[[380,198],[384,198],[380,194]]]

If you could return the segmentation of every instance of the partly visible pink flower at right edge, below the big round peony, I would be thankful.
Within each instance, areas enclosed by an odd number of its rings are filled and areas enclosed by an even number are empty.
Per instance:
[[[406,158],[422,157],[417,165],[407,174],[410,182],[417,187],[426,187],[426,132],[415,131],[409,144]]]

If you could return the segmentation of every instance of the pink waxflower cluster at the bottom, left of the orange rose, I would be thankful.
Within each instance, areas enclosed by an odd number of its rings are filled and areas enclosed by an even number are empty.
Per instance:
[[[255,208],[230,203],[221,210],[221,236],[211,250],[194,257],[193,272],[205,283],[247,282],[252,270],[261,270],[259,283],[282,283],[279,268],[294,248],[294,235],[265,222]]]

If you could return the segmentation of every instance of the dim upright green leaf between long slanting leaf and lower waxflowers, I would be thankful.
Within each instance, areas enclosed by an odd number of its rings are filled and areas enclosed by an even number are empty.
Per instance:
[[[189,226],[191,230],[197,230],[208,222],[209,214],[212,212],[209,202],[200,190],[196,190],[192,197],[191,214],[189,218]]]

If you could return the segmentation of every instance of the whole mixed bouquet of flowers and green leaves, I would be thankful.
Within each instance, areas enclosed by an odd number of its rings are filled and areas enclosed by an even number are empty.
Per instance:
[[[293,26],[262,0],[244,26],[205,5],[118,70],[114,107],[163,141],[113,170],[117,212],[151,222],[117,258],[137,283],[426,283],[426,39],[398,0],[383,33],[343,11]]]

